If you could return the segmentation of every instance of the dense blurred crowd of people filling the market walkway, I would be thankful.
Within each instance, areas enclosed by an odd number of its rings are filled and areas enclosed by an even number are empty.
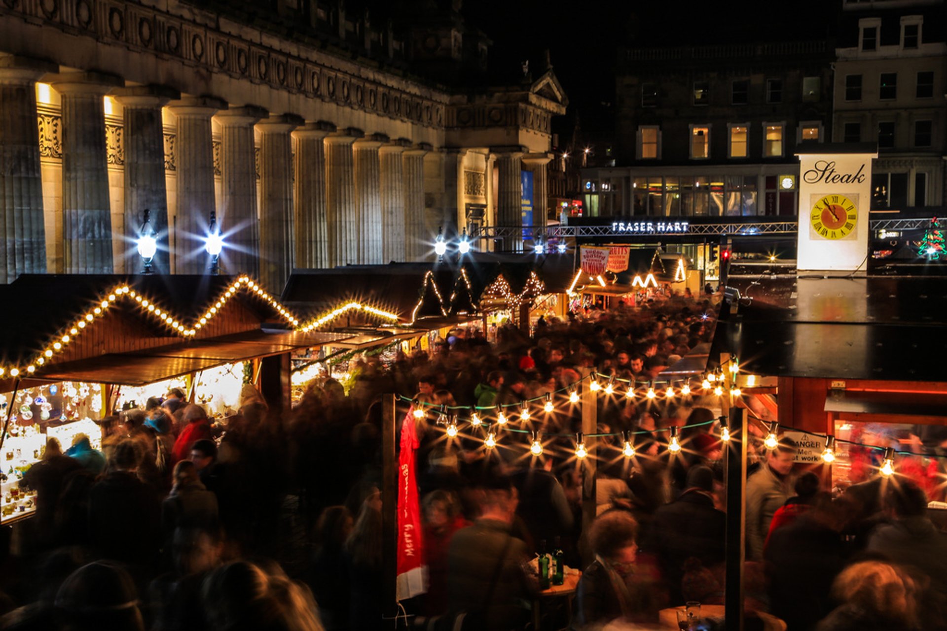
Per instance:
[[[554,549],[581,578],[571,619],[545,605],[543,628],[651,628],[662,608],[723,604],[715,397],[599,397],[596,433],[630,432],[636,455],[601,440],[593,475],[574,452],[581,407],[565,394],[593,373],[647,385],[708,352],[715,298],[543,318],[531,335],[508,324],[494,342],[457,328],[430,352],[352,359],[348,387],[319,378],[290,411],[248,386],[218,424],[171,392],[103,421],[101,452],[87,437],[65,451],[49,440],[23,481],[37,511],[9,542],[19,553],[6,559],[15,579],[0,584],[0,628],[525,629],[539,589],[529,562]],[[427,568],[425,593],[399,616],[384,600],[390,393],[403,397],[398,429],[418,436]],[[441,406],[489,417],[545,395],[555,412],[509,424],[549,437],[539,455],[531,433],[502,433],[490,449],[483,427],[451,437],[438,423]],[[680,453],[667,449],[672,429]],[[867,476],[833,495],[822,471],[799,470],[791,440],[767,450],[751,431],[748,610],[790,631],[947,628],[947,540],[925,489]],[[764,628],[749,616],[747,628]]]

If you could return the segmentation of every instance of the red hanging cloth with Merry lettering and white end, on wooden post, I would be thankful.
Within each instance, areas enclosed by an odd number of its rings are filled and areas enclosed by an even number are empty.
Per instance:
[[[402,445],[398,456],[398,587],[402,601],[427,591],[427,568],[423,564],[418,480],[415,451],[420,446],[415,429],[414,408],[402,421]]]

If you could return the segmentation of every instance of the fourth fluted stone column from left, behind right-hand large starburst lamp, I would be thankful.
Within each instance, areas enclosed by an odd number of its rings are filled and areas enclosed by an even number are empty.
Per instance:
[[[174,272],[202,274],[210,268],[204,246],[210,213],[216,210],[210,117],[227,109],[227,104],[213,96],[188,96],[172,101],[169,109],[177,120],[177,206],[171,241]]]

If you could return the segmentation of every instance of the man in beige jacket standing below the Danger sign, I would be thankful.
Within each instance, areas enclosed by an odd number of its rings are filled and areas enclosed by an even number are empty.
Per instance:
[[[766,463],[746,481],[747,560],[761,561],[770,523],[780,506],[789,500],[793,488],[795,443],[782,437],[775,449],[768,449]]]

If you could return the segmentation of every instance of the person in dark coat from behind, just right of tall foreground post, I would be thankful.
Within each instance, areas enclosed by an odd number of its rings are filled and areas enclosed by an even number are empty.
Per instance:
[[[811,631],[835,605],[832,581],[845,568],[842,519],[828,493],[809,510],[773,531],[765,551],[770,611],[790,629]]]

